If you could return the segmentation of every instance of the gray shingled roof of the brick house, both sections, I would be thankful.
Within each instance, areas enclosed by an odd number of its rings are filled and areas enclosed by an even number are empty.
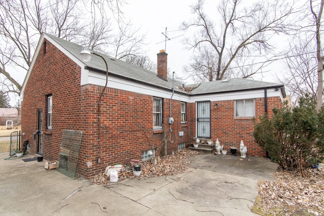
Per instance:
[[[82,51],[82,46],[76,45],[70,41],[61,39],[59,37],[53,36],[51,34],[45,33],[47,36],[55,40],[59,45],[66,49],[70,54],[75,58],[82,61],[80,52]],[[97,52],[98,53],[98,52]],[[125,77],[127,79],[132,79],[135,81],[144,82],[150,85],[155,85],[159,88],[172,89],[172,80],[168,81],[157,77],[156,73],[146,70],[144,68],[138,67],[136,65],[114,59],[105,54],[98,53],[103,56],[108,64],[108,72],[110,74],[118,75]],[[106,71],[106,66],[102,59],[96,55],[91,56],[90,62],[84,62],[87,67],[98,69],[101,71]],[[109,75],[109,74],[108,74]],[[175,81],[174,89],[177,92],[185,93],[184,91],[179,90],[177,87],[180,87],[182,83]],[[244,91],[244,90],[253,90],[253,89],[264,89],[264,88],[282,88],[282,94],[286,95],[283,84],[256,81],[252,79],[243,79],[243,78],[234,78],[228,79],[227,82],[223,80],[211,81],[197,84],[198,87],[190,92],[190,95],[200,95],[200,94],[212,94],[212,93],[223,93],[223,92],[234,92],[234,91]],[[192,85],[188,85],[192,86]]]

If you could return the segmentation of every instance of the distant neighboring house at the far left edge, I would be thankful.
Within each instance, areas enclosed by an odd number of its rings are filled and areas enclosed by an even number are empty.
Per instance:
[[[16,108],[0,108],[0,125],[11,129],[13,125],[20,125],[20,116]]]

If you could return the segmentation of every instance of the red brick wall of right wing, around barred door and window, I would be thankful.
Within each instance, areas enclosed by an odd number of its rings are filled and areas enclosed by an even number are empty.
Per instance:
[[[215,106],[217,103],[217,106]],[[274,107],[279,108],[281,101],[279,97],[268,98],[268,115],[272,115]],[[190,119],[192,124],[192,132],[195,134],[195,103],[190,104]],[[262,116],[264,112],[264,98],[255,99],[256,120]],[[262,148],[254,142],[253,137],[254,122],[249,117],[234,117],[234,101],[217,101],[211,102],[211,135],[215,141],[217,138],[226,150],[230,147],[239,149],[240,141],[243,140],[245,146],[248,147],[247,154],[249,156],[265,156]]]

